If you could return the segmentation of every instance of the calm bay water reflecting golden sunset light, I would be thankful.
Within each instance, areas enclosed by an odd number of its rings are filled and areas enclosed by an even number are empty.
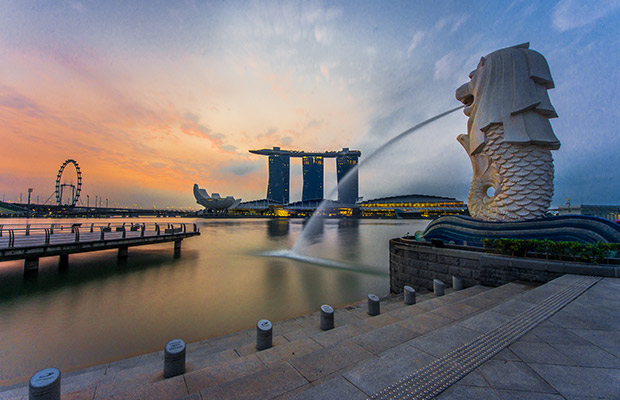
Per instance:
[[[98,222],[29,220],[29,223]],[[104,220],[101,220],[104,221]],[[24,280],[23,261],[0,263],[0,385],[26,382],[37,370],[63,372],[342,306],[389,292],[388,240],[422,230],[428,221],[326,220],[305,255],[341,261],[340,269],[261,254],[289,249],[302,220],[140,219],[197,223],[201,236],[117,251],[40,260]],[[105,222],[129,222],[107,219]],[[135,222],[135,221],[134,221]],[[0,220],[4,224],[26,220]]]

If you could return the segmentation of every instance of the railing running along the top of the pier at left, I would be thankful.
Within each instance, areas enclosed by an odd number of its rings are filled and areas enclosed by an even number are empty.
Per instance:
[[[0,249],[199,232],[194,223],[0,224]]]

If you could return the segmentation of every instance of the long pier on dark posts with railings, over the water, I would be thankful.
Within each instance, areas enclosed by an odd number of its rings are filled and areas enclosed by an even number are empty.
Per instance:
[[[41,257],[60,256],[66,267],[70,254],[118,249],[119,257],[127,257],[129,247],[164,242],[174,242],[178,253],[183,239],[197,235],[196,224],[0,225],[0,262],[24,260],[28,272],[38,270]]]

